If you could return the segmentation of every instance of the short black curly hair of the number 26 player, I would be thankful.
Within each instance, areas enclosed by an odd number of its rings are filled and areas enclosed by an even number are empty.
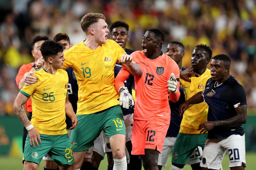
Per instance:
[[[54,58],[59,52],[63,52],[64,47],[58,42],[47,40],[41,45],[40,51],[43,55],[44,61],[47,61],[47,58]]]

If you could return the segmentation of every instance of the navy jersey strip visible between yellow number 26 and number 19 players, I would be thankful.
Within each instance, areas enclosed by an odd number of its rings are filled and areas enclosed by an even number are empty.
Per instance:
[[[78,85],[76,75],[71,67],[66,69],[66,71],[68,72],[68,100],[72,104],[73,110],[76,113],[78,101]],[[69,129],[72,126],[72,121],[68,116],[66,116],[66,123],[67,128]]]

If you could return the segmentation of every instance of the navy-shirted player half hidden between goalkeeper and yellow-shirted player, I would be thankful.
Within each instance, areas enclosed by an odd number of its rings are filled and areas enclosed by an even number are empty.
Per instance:
[[[185,55],[184,45],[179,41],[172,41],[167,45],[166,54],[169,55],[179,66],[180,71],[185,70],[182,67],[182,58]],[[158,156],[158,168],[161,170],[162,166],[167,166],[167,161],[174,147],[176,137],[180,130],[180,123],[182,117],[179,115],[179,107],[185,101],[185,96],[183,93],[183,88],[180,87],[180,98],[177,102],[172,102],[169,100],[169,105],[171,108],[171,122],[169,129],[167,130],[166,137],[164,138],[164,146],[162,152]],[[192,169],[200,169],[200,159],[202,156],[202,148],[197,147],[196,150],[192,153],[190,159],[186,164],[191,165]]]

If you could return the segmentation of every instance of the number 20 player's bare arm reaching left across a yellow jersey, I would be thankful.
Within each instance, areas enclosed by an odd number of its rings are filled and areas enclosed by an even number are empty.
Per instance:
[[[203,102],[204,101],[203,93],[204,93],[204,90],[202,92],[196,93],[190,99],[182,103],[179,108],[180,115],[187,110],[188,105],[193,105],[193,104],[198,104]]]

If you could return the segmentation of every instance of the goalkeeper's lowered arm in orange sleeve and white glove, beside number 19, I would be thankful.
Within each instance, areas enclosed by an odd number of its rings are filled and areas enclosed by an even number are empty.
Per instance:
[[[115,78],[115,88],[119,92],[119,105],[126,109],[134,106],[134,100],[132,95],[129,93],[127,87],[124,86],[124,81],[131,75],[131,73],[122,68]]]

